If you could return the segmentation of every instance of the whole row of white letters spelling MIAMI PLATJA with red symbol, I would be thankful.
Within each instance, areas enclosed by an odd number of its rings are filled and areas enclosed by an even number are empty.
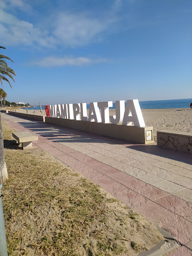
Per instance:
[[[133,122],[134,126],[145,126],[138,100],[127,100],[126,108],[124,100],[116,101],[115,105],[116,114],[113,116],[109,116],[109,108],[112,107],[112,101],[91,102],[88,114],[86,103],[49,105],[49,117],[95,121],[97,123],[109,123],[111,121],[112,124],[126,126],[131,125]],[[99,108],[101,108],[101,114]]]

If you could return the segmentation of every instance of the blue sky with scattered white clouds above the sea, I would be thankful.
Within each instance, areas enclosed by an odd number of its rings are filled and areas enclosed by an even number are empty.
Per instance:
[[[192,98],[192,0],[0,0],[0,45],[10,102]]]

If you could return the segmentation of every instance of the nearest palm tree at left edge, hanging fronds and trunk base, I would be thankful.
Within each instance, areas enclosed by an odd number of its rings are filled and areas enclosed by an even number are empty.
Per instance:
[[[2,47],[2,46],[0,46],[0,48],[6,49],[5,47]],[[5,59],[12,61],[12,59],[10,59],[9,57],[0,54],[0,82],[1,82],[1,85],[3,85],[3,81],[6,81],[11,87],[11,84],[8,78],[11,78],[14,81],[13,75],[16,76],[16,73],[13,69],[8,67],[8,64],[5,61]],[[1,126],[1,119],[0,119],[0,184],[4,183],[7,179],[8,179],[8,171],[7,171],[5,158],[4,158],[3,133],[2,133],[2,126]]]

